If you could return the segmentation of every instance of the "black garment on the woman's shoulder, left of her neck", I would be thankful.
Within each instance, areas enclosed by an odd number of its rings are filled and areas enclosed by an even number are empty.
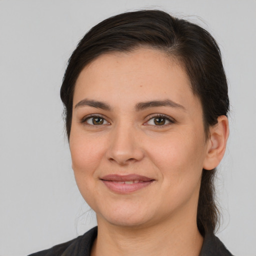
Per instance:
[[[49,249],[41,250],[28,256],[86,256],[89,255],[91,246],[97,236],[97,227],[70,241],[57,244]]]

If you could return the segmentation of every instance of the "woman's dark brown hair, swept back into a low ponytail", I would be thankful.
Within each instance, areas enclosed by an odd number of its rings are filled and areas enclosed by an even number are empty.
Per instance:
[[[227,82],[214,38],[202,27],[160,10],[125,12],[92,27],[69,58],[60,89],[68,139],[73,92],[82,68],[103,53],[128,52],[138,47],[159,49],[184,68],[191,89],[202,105],[206,137],[209,126],[217,123],[217,117],[227,115]],[[197,206],[197,227],[202,235],[214,232],[218,223],[214,201],[215,171],[202,170]]]

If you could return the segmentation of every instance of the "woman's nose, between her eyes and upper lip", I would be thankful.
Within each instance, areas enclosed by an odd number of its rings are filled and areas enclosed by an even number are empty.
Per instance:
[[[127,123],[116,125],[111,131],[106,157],[120,165],[140,161],[144,152],[139,131]]]

